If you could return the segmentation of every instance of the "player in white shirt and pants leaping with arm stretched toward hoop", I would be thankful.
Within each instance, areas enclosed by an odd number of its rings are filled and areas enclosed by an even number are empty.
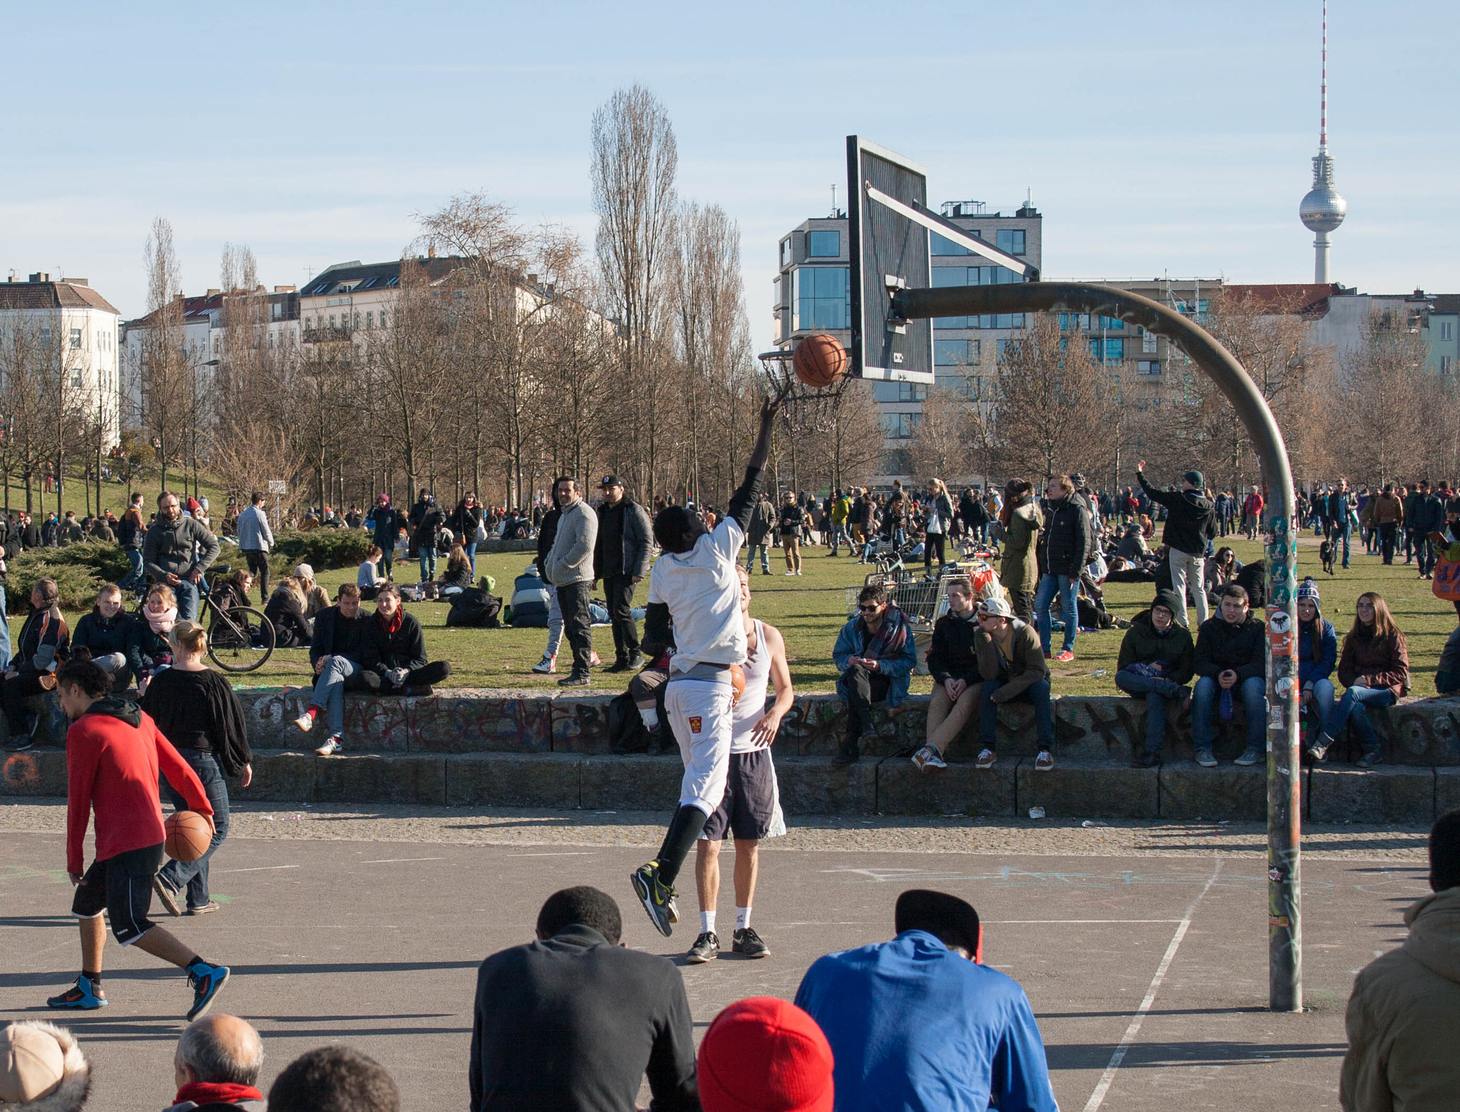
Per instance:
[[[658,654],[669,644],[673,625],[677,648],[670,658],[664,714],[679,743],[685,778],[679,808],[658,855],[631,880],[656,930],[666,937],[679,919],[675,877],[726,791],[734,703],[731,667],[746,660],[736,555],[759,498],[771,426],[784,397],[783,390],[761,406],[755,451],[746,464],[745,482],[730,496],[724,521],[707,533],[704,522],[683,506],[666,506],[654,518],[654,540],[663,555],[648,575],[644,652],[648,657]]]

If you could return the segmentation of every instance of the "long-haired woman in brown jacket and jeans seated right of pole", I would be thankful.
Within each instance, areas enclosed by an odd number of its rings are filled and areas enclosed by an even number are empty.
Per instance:
[[[1339,655],[1339,683],[1348,690],[1323,719],[1308,756],[1323,760],[1343,724],[1352,719],[1364,746],[1358,766],[1367,769],[1378,765],[1383,756],[1365,708],[1393,706],[1409,693],[1409,645],[1378,591],[1361,594],[1355,610],[1353,629],[1343,638]]]

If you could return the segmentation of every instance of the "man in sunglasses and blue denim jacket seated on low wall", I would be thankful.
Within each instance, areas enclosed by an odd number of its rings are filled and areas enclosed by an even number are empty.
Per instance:
[[[837,664],[837,695],[847,700],[847,735],[834,765],[851,765],[858,741],[872,730],[872,708],[901,703],[908,695],[917,645],[907,614],[888,601],[888,588],[863,587],[857,617],[837,635],[831,658]]]

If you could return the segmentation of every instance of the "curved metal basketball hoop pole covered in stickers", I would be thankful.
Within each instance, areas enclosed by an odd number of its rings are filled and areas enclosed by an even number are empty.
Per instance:
[[[1298,525],[1282,430],[1242,365],[1204,328],[1139,293],[1073,282],[907,289],[892,296],[907,320],[991,312],[1118,317],[1165,336],[1216,382],[1253,438],[1267,486],[1267,1005],[1302,1011],[1301,778],[1298,756]]]

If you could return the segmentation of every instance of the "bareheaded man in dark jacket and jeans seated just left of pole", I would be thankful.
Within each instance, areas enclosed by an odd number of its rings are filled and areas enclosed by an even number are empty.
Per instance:
[[[1197,629],[1191,693],[1191,743],[1196,763],[1216,768],[1212,753],[1212,717],[1231,721],[1240,698],[1247,712],[1247,749],[1238,765],[1256,765],[1267,750],[1267,657],[1266,628],[1253,617],[1247,591],[1237,584],[1222,588],[1222,603],[1215,617]]]

